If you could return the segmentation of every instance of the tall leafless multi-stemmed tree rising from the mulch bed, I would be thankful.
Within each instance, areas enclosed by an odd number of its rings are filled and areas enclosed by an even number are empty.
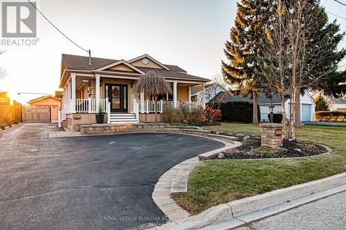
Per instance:
[[[279,0],[266,30],[268,39],[261,47],[266,88],[282,97],[284,136],[290,140],[295,140],[293,117],[300,90],[309,88],[334,71],[329,69],[314,73],[330,58],[329,52],[323,52],[323,47],[328,46],[328,39],[324,39],[328,30],[325,35],[316,33],[320,23],[323,23],[317,11],[316,4],[309,0],[296,0],[286,5]],[[288,128],[284,104],[286,95],[291,99]]]

